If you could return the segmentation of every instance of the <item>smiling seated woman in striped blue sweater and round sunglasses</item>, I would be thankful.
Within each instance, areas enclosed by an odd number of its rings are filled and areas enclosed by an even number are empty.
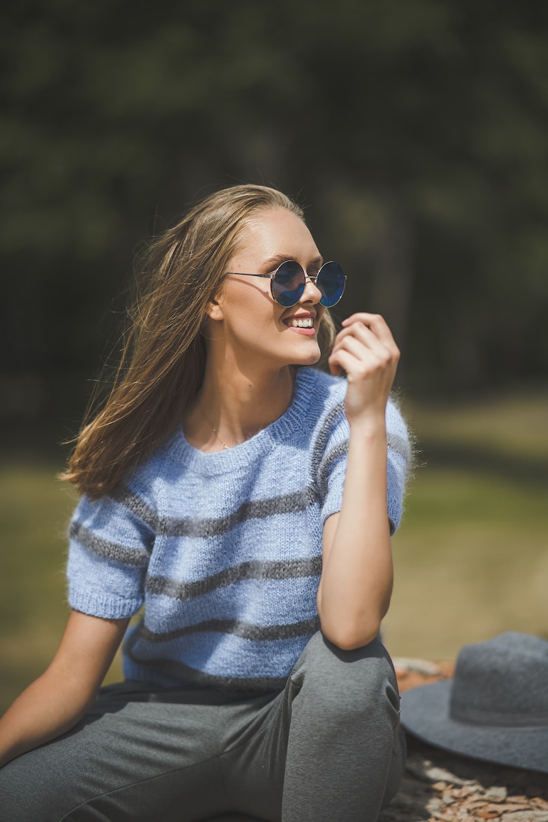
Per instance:
[[[3,816],[376,820],[403,767],[378,639],[408,456],[394,339],[356,313],[329,354],[344,275],[266,187],[196,206],[144,279],[66,474],[67,629],[0,723]]]

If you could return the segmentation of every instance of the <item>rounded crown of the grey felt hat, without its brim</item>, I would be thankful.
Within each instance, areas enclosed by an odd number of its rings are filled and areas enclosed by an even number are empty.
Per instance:
[[[465,645],[455,667],[450,713],[480,725],[548,725],[548,643],[509,632]]]

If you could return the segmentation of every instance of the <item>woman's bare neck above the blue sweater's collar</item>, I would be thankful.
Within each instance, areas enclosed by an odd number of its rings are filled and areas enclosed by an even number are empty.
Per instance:
[[[208,358],[195,402],[183,419],[187,441],[205,451],[233,448],[250,439],[288,409],[293,371],[230,369],[225,373]]]

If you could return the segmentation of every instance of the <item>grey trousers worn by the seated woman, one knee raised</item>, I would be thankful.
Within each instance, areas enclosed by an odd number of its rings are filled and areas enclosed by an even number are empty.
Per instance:
[[[380,640],[315,634],[279,694],[125,682],[70,732],[0,769],[5,822],[375,822],[403,734]]]

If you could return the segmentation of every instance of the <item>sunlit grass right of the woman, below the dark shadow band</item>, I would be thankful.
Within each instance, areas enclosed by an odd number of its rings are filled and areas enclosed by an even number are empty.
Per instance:
[[[394,538],[390,652],[447,659],[505,630],[546,633],[547,547],[546,487],[427,466]]]

